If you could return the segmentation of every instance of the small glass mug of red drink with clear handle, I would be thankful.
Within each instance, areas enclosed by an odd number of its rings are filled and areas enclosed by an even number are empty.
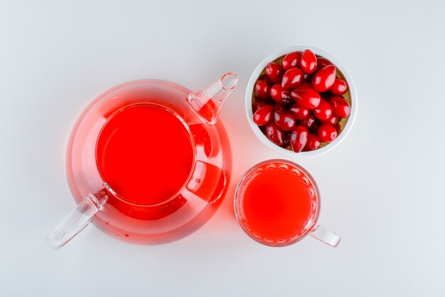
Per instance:
[[[318,224],[320,192],[311,174],[288,160],[267,160],[248,170],[235,192],[242,229],[267,246],[288,246],[308,234],[330,246],[340,236]]]

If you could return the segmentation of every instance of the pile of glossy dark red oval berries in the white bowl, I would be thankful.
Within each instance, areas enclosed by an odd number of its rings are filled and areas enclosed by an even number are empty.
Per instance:
[[[343,95],[345,80],[336,66],[311,50],[267,64],[254,86],[253,121],[274,144],[294,152],[317,150],[341,131],[339,120],[350,114]]]

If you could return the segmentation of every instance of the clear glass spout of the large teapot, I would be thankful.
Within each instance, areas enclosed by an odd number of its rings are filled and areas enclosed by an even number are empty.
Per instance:
[[[201,120],[214,125],[225,99],[232,93],[237,83],[238,76],[235,73],[225,73],[205,90],[188,94],[187,101]]]

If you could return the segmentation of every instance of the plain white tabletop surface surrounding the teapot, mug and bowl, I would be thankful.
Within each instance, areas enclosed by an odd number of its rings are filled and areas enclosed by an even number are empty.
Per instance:
[[[445,296],[443,1],[0,0],[0,296]],[[281,157],[247,124],[244,92],[269,53],[336,56],[360,107],[335,150],[295,158],[321,189],[312,238],[252,241],[232,197],[245,170]],[[240,76],[222,119],[234,172],[215,217],[186,239],[135,246],[89,226],[59,251],[45,234],[75,207],[65,178],[87,103],[136,78],[203,88]]]

